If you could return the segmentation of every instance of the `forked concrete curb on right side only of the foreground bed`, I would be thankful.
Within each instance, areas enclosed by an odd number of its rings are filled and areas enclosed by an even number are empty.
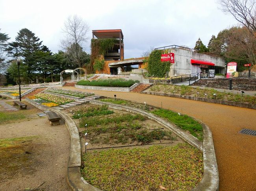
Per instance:
[[[161,124],[162,126],[165,126],[168,129],[170,129],[173,133],[178,135],[185,142],[200,149],[203,152],[203,159],[204,159],[203,178],[197,184],[197,186],[192,189],[192,191],[203,191],[203,190],[218,191],[219,190],[219,171],[218,171],[218,166],[217,166],[217,161],[216,161],[216,156],[214,151],[214,144],[213,144],[213,139],[211,135],[211,130],[208,126],[206,126],[206,124],[202,123],[203,136],[204,136],[204,140],[202,143],[197,138],[188,134],[186,131],[184,131],[180,127],[177,127],[176,125],[170,123],[169,121],[161,117],[158,117],[157,115],[154,115],[152,113],[143,111],[141,109],[137,109],[129,106],[121,106],[121,105],[111,104],[106,102],[100,102],[95,100],[90,100],[90,104],[97,104],[97,105],[107,104],[110,108],[113,108],[113,109],[126,110],[132,113],[139,113],[143,116],[147,116],[151,120],[154,120],[157,123]]]

